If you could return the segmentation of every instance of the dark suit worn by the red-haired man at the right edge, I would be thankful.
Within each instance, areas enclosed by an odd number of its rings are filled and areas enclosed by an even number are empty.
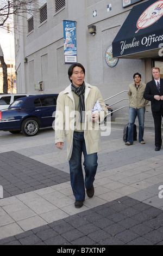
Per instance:
[[[155,146],[161,147],[161,120],[163,117],[163,100],[154,99],[155,95],[163,96],[163,79],[160,79],[160,92],[156,87],[155,80],[152,80],[147,83],[144,92],[144,98],[151,101],[151,109],[155,127]]]

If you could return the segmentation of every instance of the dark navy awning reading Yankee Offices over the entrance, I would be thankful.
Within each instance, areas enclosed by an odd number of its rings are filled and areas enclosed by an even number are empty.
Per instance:
[[[148,0],[134,6],[112,42],[113,57],[142,59],[162,56],[162,15],[163,0]]]

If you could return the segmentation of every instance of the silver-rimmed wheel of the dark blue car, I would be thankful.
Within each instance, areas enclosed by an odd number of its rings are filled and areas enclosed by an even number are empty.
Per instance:
[[[22,133],[26,136],[34,136],[39,132],[39,123],[35,118],[27,118],[22,122]]]

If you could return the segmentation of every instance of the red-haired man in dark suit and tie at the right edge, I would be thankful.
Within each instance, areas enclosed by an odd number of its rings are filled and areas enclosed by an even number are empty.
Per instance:
[[[152,115],[155,128],[155,151],[160,151],[162,145],[161,120],[163,117],[163,79],[160,78],[160,69],[152,68],[154,80],[146,85],[144,98],[151,101]]]

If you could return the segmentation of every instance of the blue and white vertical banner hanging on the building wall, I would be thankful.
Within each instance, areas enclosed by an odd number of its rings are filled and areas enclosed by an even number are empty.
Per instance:
[[[76,21],[64,20],[65,64],[77,63]]]

